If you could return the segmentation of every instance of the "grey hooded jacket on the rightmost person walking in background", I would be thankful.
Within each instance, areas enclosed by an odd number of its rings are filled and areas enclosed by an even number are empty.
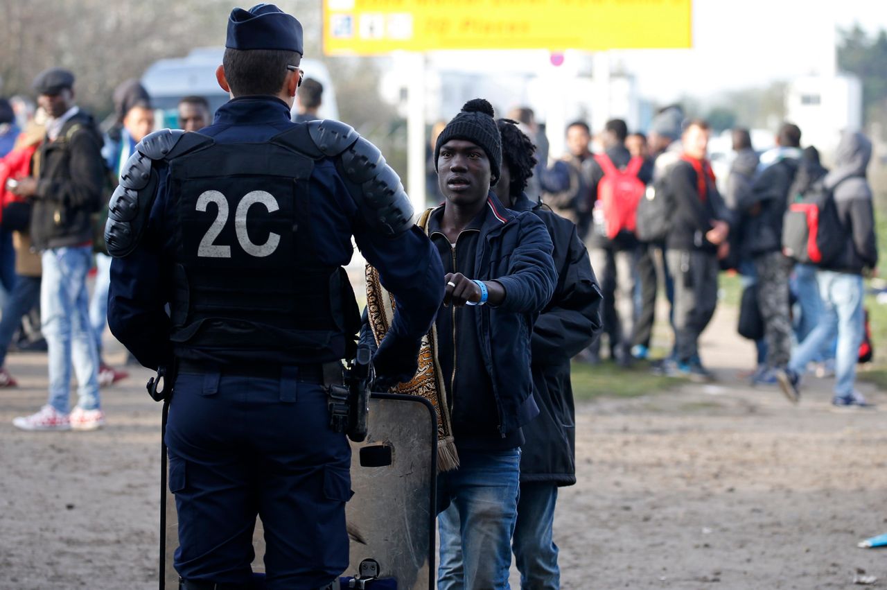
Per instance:
[[[878,262],[872,189],[866,180],[871,156],[872,144],[864,135],[844,132],[837,146],[836,166],[824,182],[834,191],[837,214],[847,232],[847,248],[828,270],[862,274]]]

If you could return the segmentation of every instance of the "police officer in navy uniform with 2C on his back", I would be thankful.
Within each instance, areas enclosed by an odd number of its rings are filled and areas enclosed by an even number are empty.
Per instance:
[[[379,150],[341,122],[290,122],[301,59],[293,16],[234,9],[216,71],[232,100],[200,132],[145,138],[110,205],[111,330],[142,365],[177,366],[166,444],[189,590],[248,587],[256,515],[270,590],[348,566],[350,451],[326,391],[359,326],[351,236],[396,296],[379,380],[412,377],[443,299]]]

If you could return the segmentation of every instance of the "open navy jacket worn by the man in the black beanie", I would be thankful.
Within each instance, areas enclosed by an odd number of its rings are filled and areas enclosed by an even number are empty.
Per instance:
[[[481,227],[480,248],[475,252],[477,276],[470,278],[496,280],[506,291],[498,307],[480,309],[475,325],[480,361],[496,398],[498,432],[506,437],[539,413],[532,395],[530,334],[554,293],[558,276],[552,240],[538,216],[506,209],[493,193],[487,202],[492,215]],[[464,366],[464,361],[460,363]]]

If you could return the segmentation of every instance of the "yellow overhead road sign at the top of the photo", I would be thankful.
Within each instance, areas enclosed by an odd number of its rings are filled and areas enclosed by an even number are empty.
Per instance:
[[[692,0],[324,0],[324,52],[687,48],[691,17]]]

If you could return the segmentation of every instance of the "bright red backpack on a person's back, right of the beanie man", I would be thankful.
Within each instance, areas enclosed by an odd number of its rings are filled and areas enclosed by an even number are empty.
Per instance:
[[[638,203],[647,191],[638,178],[643,158],[633,157],[624,169],[617,169],[606,153],[596,153],[594,160],[604,171],[598,183],[598,199],[603,206],[604,230],[610,240],[623,230],[634,233],[638,225]]]

